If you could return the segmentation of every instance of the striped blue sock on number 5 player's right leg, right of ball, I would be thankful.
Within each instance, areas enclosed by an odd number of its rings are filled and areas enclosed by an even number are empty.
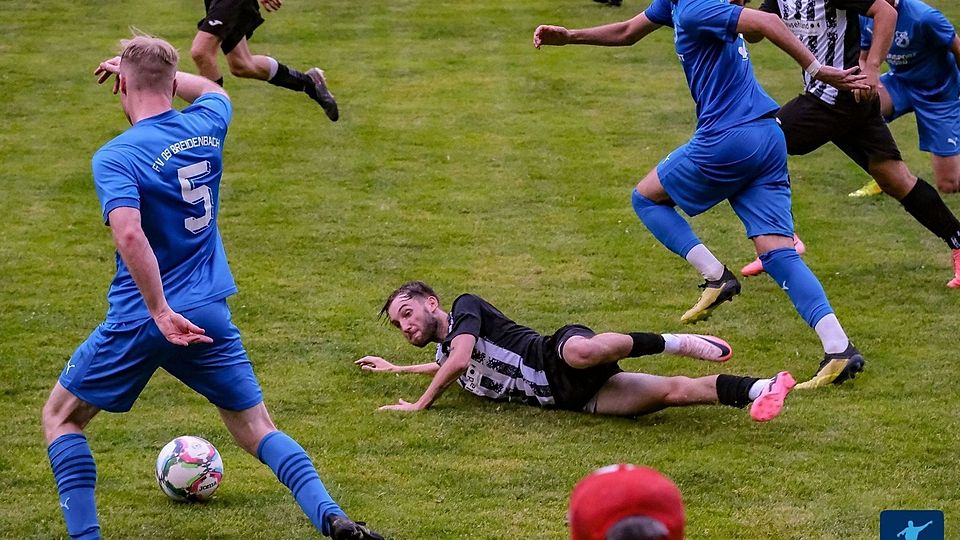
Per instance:
[[[271,432],[260,441],[257,457],[290,489],[313,526],[330,536],[327,517],[346,514],[330,498],[316,467],[297,441],[282,431]]]

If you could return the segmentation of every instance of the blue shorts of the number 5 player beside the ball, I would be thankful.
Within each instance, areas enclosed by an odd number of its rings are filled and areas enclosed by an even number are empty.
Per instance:
[[[226,300],[181,313],[203,328],[213,343],[173,345],[153,319],[105,322],[77,348],[60,384],[105,411],[126,412],[157,368],[162,367],[217,407],[249,409],[263,401],[253,366],[230,320]]]

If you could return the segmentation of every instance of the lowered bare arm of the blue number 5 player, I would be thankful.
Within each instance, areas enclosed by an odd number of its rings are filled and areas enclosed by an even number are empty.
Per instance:
[[[167,341],[181,346],[212,343],[212,339],[203,335],[203,328],[188,321],[170,309],[167,304],[157,257],[140,227],[140,210],[127,207],[115,208],[107,217],[117,252],[127,265],[137,288],[140,289],[150,316],[153,317]]]

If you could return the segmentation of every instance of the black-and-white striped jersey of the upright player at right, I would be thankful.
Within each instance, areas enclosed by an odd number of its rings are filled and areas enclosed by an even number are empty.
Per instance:
[[[860,15],[874,0],[763,0],[762,11],[775,13],[817,60],[837,69],[848,69],[860,58]],[[834,105],[839,90],[803,74],[805,90]]]

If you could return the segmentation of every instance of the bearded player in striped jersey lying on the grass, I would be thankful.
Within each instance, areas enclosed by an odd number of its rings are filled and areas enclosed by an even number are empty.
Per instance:
[[[786,371],[769,379],[626,373],[617,365],[623,358],[667,352],[724,362],[733,351],[727,342],[713,336],[597,334],[576,324],[544,336],[513,322],[473,294],[457,297],[447,313],[433,289],[421,281],[395,290],[381,315],[386,315],[410,344],[437,344],[435,362],[398,366],[378,356],[356,361],[368,371],[432,377],[417,401],[401,399],[381,410],[426,409],[456,381],[471,394],[496,401],[616,416],[717,402],[734,407],[750,404],[750,416],[766,422],[780,414],[795,384]]]

